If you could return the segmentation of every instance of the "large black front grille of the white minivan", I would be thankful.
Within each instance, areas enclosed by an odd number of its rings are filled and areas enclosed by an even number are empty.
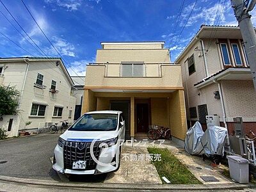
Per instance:
[[[81,147],[81,145],[84,145],[84,147]],[[100,155],[99,145],[99,141],[93,145],[93,154],[97,160],[99,160]],[[72,170],[73,162],[81,160],[86,161],[85,170],[95,170],[97,163],[95,163],[90,155],[90,146],[91,143],[87,142],[66,141],[63,147],[64,168]]]

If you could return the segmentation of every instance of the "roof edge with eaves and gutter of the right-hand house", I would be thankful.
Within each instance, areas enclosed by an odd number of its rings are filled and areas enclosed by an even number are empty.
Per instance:
[[[236,33],[239,33],[241,35],[239,26],[213,26],[213,25],[204,25],[203,24],[200,27],[200,29],[196,32],[195,36],[193,36],[193,38],[191,38],[188,45],[186,45],[186,47],[180,53],[178,58],[175,60],[175,63],[179,63],[179,61],[182,60],[182,58],[185,56],[186,52],[189,51],[189,48],[192,47],[198,41],[199,38],[202,38],[204,31],[212,31],[212,30],[216,30],[216,31],[225,31],[225,30],[231,31],[232,30],[232,31],[237,31]],[[230,35],[230,33],[228,33],[228,35]],[[216,33],[214,33],[214,36],[216,36]]]

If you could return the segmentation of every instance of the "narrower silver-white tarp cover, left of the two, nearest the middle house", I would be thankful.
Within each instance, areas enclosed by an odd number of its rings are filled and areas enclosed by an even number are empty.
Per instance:
[[[202,155],[204,154],[204,148],[200,143],[201,138],[204,134],[202,126],[199,122],[196,122],[193,127],[190,127],[186,133],[185,139],[185,150],[191,155]]]

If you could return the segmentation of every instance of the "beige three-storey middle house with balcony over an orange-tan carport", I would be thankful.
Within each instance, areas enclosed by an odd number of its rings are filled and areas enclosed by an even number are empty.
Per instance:
[[[184,143],[187,131],[181,67],[170,63],[164,42],[102,42],[96,63],[87,65],[83,110],[124,112],[126,138],[148,125],[170,127]]]

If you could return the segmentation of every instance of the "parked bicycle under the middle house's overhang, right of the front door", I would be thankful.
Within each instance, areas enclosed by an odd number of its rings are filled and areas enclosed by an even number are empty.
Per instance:
[[[152,125],[149,127],[148,138],[150,140],[159,140],[160,138],[170,140],[171,130],[168,127]]]

